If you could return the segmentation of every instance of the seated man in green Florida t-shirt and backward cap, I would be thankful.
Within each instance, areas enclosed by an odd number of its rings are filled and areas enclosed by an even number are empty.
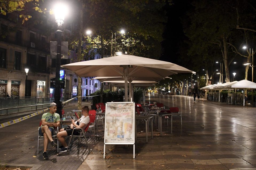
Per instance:
[[[57,111],[57,104],[51,103],[50,112],[44,113],[42,115],[42,125],[39,128],[39,134],[40,136],[44,136],[44,152],[43,152],[44,159],[49,159],[46,152],[49,140],[53,148],[56,148],[57,146],[57,144],[52,139],[54,129],[60,126],[60,115],[55,113],[56,111]]]

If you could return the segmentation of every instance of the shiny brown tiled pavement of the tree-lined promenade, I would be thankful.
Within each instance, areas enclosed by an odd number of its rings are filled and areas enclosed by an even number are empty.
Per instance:
[[[99,133],[98,143],[90,140],[93,150],[88,156],[84,144],[77,153],[76,141],[68,153],[57,156],[55,151],[50,151],[49,160],[43,160],[42,154],[33,158],[33,155],[37,156],[37,132],[33,132],[8,141],[8,147],[0,141],[1,163],[40,164],[39,169],[256,170],[256,108],[202,100],[194,102],[192,97],[186,96],[151,94],[147,99],[164,103],[166,107],[179,107],[183,125],[179,125],[178,118],[174,119],[171,134],[170,126],[163,121],[163,136],[160,137],[153,126],[154,139],[149,135],[148,143],[145,143],[145,132],[140,132],[145,128],[140,123],[135,159],[132,158],[132,145],[129,148],[107,145],[108,159],[103,159],[103,132]],[[40,145],[42,153],[42,141]],[[13,148],[11,153],[10,148]]]

